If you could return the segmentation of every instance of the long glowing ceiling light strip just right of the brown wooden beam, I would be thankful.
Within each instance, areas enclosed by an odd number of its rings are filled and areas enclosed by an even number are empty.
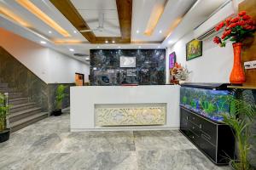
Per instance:
[[[153,10],[151,11],[150,18],[148,20],[147,28],[144,31],[144,34],[146,36],[151,36],[152,35],[157,23],[160,20],[161,15],[163,14],[163,12],[165,10],[166,2],[167,1],[165,1],[164,3],[161,3],[161,4],[158,3],[158,4],[154,5]]]

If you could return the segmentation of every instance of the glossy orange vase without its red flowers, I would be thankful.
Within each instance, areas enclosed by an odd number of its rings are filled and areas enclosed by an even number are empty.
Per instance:
[[[232,84],[242,84],[245,82],[244,70],[241,65],[241,42],[233,43],[234,65],[230,74]]]

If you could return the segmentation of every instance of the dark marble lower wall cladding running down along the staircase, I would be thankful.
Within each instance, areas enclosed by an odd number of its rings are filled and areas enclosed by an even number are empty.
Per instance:
[[[59,84],[45,83],[2,47],[0,47],[0,78],[2,82],[9,83],[10,88],[15,88],[16,92],[21,92],[22,96],[35,102],[43,111],[53,110],[55,89]],[[64,85],[70,87],[74,84]],[[69,97],[63,102],[63,108],[67,106],[69,106]]]

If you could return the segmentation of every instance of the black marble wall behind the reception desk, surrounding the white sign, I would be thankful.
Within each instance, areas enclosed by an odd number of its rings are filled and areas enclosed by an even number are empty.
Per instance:
[[[136,57],[136,67],[120,67],[120,56]],[[165,49],[91,49],[90,83],[94,86],[165,84]]]

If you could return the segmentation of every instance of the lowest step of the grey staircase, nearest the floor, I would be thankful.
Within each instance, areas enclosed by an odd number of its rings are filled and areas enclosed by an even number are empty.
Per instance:
[[[20,119],[19,121],[10,123],[11,133],[14,133],[20,128],[27,127],[34,122],[38,122],[48,116],[48,112],[41,112],[32,116],[28,116],[26,118]]]

